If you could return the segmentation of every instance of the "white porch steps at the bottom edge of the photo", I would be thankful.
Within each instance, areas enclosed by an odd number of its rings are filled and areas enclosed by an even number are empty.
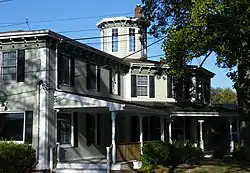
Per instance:
[[[107,172],[106,163],[58,163],[55,173],[104,173]]]

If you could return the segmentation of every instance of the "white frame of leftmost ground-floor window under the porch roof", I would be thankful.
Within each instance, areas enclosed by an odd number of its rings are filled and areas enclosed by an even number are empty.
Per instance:
[[[57,135],[58,135],[58,114],[68,114],[70,115],[70,119],[71,119],[71,128],[70,128],[70,144],[61,144],[60,142],[58,142],[58,138],[57,138]],[[56,114],[56,142],[59,143],[60,147],[61,148],[73,148],[74,147],[74,116],[73,116],[73,112],[58,112]]]

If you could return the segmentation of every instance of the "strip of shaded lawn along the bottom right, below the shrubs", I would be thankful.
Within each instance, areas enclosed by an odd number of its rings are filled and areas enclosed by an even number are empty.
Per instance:
[[[140,170],[152,173],[250,173],[250,165],[234,160],[205,160],[199,165],[179,165],[176,168],[157,166],[153,171]]]

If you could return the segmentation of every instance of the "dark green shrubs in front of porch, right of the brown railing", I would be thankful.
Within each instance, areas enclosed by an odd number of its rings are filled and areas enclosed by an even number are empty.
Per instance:
[[[152,169],[152,165],[177,166],[181,163],[196,164],[203,159],[200,149],[191,145],[171,145],[162,141],[150,141],[143,146],[140,160],[143,167]]]

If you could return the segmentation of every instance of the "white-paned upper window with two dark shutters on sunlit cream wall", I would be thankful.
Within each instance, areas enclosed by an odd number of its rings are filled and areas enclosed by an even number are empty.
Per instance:
[[[155,78],[151,75],[131,76],[131,96],[155,97]]]

